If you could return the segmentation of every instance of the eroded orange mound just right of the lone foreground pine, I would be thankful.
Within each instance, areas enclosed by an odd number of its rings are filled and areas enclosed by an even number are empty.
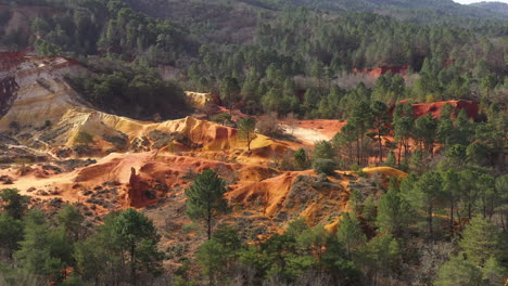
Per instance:
[[[348,197],[350,192],[338,178],[320,180],[313,171],[244,182],[228,193],[230,204],[259,211],[280,227],[297,218],[306,218],[313,225],[336,223]]]

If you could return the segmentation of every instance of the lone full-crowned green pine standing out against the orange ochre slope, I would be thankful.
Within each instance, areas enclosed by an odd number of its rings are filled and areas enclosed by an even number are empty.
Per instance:
[[[187,216],[193,221],[204,221],[208,239],[212,238],[216,217],[229,211],[228,202],[224,198],[226,192],[226,182],[209,169],[198,174],[186,190]]]

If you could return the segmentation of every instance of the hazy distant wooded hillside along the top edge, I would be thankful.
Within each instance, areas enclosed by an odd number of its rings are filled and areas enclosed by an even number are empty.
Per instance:
[[[181,1],[168,1],[168,2],[153,2],[150,0],[142,1],[127,1],[136,8],[158,17],[168,18],[180,18],[182,13],[195,14],[199,18],[209,18],[213,15],[213,11],[218,9],[229,14],[230,17],[244,17],[247,16],[244,23],[241,25],[249,25],[252,21],[255,10],[261,11],[280,11],[290,9],[291,5],[306,6],[321,10],[329,10],[333,12],[373,12],[383,15],[392,15],[397,18],[431,22],[436,18],[436,14],[441,16],[466,16],[466,17],[506,17],[501,11],[496,10],[482,10],[477,9],[475,5],[461,5],[453,0],[439,1],[439,0],[424,0],[424,1],[412,1],[412,0],[386,0],[386,1],[373,1],[373,0],[237,0],[237,1],[193,1],[193,2],[181,2]],[[157,9],[157,6],[172,5],[175,9],[165,11]],[[240,12],[241,11],[241,12]],[[204,13],[204,14],[203,14]],[[420,14],[420,15],[418,15]],[[424,18],[427,16],[427,20]],[[251,20],[249,20],[251,17]],[[212,16],[213,18],[213,16]],[[223,17],[224,20],[224,17]]]

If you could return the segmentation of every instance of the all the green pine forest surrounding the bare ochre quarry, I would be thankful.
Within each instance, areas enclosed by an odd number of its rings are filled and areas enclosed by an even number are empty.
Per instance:
[[[34,5],[52,13],[4,28]],[[191,173],[185,211],[204,242],[193,257],[163,249],[143,210],[90,222],[79,204],[41,210],[4,188],[0,285],[503,285],[507,35],[506,15],[439,0],[0,0],[0,49],[78,60],[93,76],[66,80],[99,109],[181,117],[183,90],[212,92],[256,120],[346,120],[280,170],[314,169],[321,183],[335,170],[367,178],[363,167],[373,165],[408,173],[369,181],[378,195],[353,185],[336,230],[297,219],[264,239],[215,225],[232,211],[229,182]],[[164,78],[162,67],[176,73]],[[404,73],[365,73],[379,67]],[[440,101],[478,112],[446,103],[416,116],[411,105]],[[232,122],[249,152],[253,118]]]

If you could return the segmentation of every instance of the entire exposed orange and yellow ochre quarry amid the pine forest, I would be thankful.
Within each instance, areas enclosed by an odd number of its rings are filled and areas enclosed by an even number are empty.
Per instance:
[[[65,57],[17,55],[4,73],[16,88],[0,131],[3,159],[26,161],[0,176],[33,204],[68,202],[99,219],[128,207],[156,207],[185,225],[185,190],[195,174],[213,169],[228,183],[232,208],[221,222],[249,225],[250,235],[264,239],[299,218],[333,231],[348,210],[351,190],[379,196],[390,178],[406,176],[388,167],[364,169],[365,178],[278,169],[283,156],[331,139],[344,121],[281,121],[297,142],[255,134],[247,151],[237,129],[192,116],[151,122],[97,110],[65,80],[67,74],[92,76],[87,68]],[[212,100],[207,93],[187,95],[196,108]],[[92,138],[85,152],[76,140],[82,132]]]

